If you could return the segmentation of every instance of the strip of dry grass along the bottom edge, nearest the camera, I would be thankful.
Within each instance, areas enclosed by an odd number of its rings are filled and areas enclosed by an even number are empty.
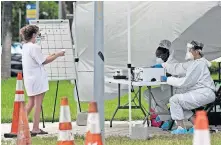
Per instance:
[[[106,145],[192,145],[193,137],[190,135],[182,136],[169,136],[169,137],[154,137],[150,140],[131,140],[125,137],[110,137],[106,139]],[[2,145],[11,145],[14,141],[2,141]],[[55,145],[57,142],[56,137],[33,137],[32,145]],[[220,145],[221,134],[212,134],[211,145]],[[84,144],[82,137],[75,138],[76,145]]]

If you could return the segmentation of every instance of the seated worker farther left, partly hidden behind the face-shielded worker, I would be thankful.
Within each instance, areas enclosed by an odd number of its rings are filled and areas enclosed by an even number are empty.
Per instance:
[[[174,50],[171,49],[171,42],[169,40],[162,40],[159,43],[159,47],[156,50],[156,62],[157,64],[161,63],[178,63],[177,60],[174,59]],[[151,97],[151,109],[154,112],[168,112],[167,104],[169,103],[169,98],[172,96],[171,94],[171,86],[169,85],[161,85],[160,87],[152,89],[153,97]],[[146,90],[144,92],[144,98],[147,102],[149,102],[149,91]],[[164,124],[161,126],[163,129],[167,129],[169,123],[167,122],[171,119],[170,115],[159,115],[157,117],[158,122],[164,121]],[[152,121],[152,126],[160,126],[158,123]]]

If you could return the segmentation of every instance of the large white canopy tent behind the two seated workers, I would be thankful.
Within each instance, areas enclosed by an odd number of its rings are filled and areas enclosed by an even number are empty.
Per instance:
[[[116,69],[127,69],[128,4],[131,11],[131,64],[150,66],[160,40],[172,41],[175,57],[184,60],[186,43],[204,43],[205,57],[221,56],[221,3],[216,2],[104,2],[105,78]],[[73,34],[77,47],[77,84],[81,101],[90,101],[94,76],[93,2],[77,2]],[[127,92],[128,86],[122,86]],[[117,86],[105,83],[105,99],[117,96]]]

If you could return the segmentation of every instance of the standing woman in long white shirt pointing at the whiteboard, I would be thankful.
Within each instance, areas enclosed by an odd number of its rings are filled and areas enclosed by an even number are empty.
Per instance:
[[[24,40],[22,46],[22,66],[24,86],[28,95],[26,105],[27,114],[34,107],[33,129],[31,133],[47,134],[39,128],[41,105],[45,93],[49,90],[47,72],[44,65],[54,61],[60,56],[64,56],[64,51],[54,53],[45,57],[41,52],[41,47],[36,44],[40,39],[39,28],[35,25],[23,27],[20,34]]]

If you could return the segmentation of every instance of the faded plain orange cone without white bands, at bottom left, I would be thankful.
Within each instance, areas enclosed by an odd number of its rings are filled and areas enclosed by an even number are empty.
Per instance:
[[[28,117],[25,103],[20,104],[17,145],[31,145],[31,134],[29,131]]]

